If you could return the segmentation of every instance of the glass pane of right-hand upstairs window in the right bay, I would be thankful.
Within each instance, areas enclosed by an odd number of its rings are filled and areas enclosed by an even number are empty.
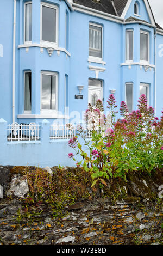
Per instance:
[[[148,61],[148,35],[140,33],[140,59]]]

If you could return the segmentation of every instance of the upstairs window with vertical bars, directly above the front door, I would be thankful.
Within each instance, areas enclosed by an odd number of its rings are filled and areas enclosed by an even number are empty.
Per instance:
[[[102,58],[102,26],[89,25],[89,56]]]

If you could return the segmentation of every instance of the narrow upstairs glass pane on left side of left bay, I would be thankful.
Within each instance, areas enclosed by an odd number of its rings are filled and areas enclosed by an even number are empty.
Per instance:
[[[32,41],[32,4],[26,4],[25,41]]]

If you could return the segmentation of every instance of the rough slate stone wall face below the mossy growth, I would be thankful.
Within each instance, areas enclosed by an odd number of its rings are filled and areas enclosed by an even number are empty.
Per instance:
[[[143,197],[139,193],[140,197],[125,200],[102,196],[80,200],[68,205],[62,218],[54,218],[52,211],[41,205],[31,209],[32,217],[24,218],[22,200],[6,196],[15,178],[8,177],[9,168],[3,169],[0,179],[5,197],[0,199],[0,245],[162,244],[163,208],[159,197]],[[153,183],[158,187],[156,179]],[[136,187],[135,190],[139,191]]]

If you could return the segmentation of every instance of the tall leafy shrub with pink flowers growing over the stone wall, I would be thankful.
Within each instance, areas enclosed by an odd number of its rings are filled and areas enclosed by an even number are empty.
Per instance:
[[[106,179],[123,178],[126,180],[128,172],[151,174],[152,170],[163,167],[163,115],[159,121],[155,118],[153,107],[147,107],[147,99],[141,95],[137,111],[128,113],[128,107],[121,102],[121,119],[118,113],[114,95],[108,99],[108,108],[111,115],[110,124],[106,123],[101,109],[89,105],[86,110],[86,121],[91,120],[91,139],[85,137],[86,131],[78,127],[77,136],[68,143],[75,151],[68,156],[76,161],[76,155],[82,156],[77,166],[83,166],[91,174],[92,186],[97,181],[106,185]],[[99,102],[98,102],[99,104]],[[95,115],[96,112],[96,115]],[[90,118],[91,117],[91,118]],[[101,120],[102,124],[101,125]],[[79,137],[84,141],[87,150],[84,151]]]

